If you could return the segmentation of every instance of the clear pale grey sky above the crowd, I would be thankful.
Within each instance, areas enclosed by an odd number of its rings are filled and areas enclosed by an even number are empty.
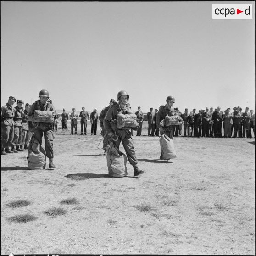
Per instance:
[[[212,3],[2,1],[1,106],[47,89],[56,109],[100,111],[123,89],[134,111],[168,95],[182,112],[254,109],[255,2],[237,20]]]

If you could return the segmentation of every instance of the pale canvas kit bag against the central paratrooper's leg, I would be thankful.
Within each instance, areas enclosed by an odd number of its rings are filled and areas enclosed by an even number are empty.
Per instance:
[[[107,145],[107,167],[108,175],[114,178],[127,176],[127,156],[113,145],[113,142]]]

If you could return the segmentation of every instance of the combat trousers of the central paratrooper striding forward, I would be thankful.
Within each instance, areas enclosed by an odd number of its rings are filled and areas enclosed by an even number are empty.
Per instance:
[[[120,143],[122,141],[122,145],[124,147],[129,163],[132,166],[137,165],[138,160],[135,155],[134,139],[132,138],[131,132],[129,130],[117,130],[117,135],[118,139],[117,141],[113,141],[114,145],[116,145],[117,149],[119,149]]]

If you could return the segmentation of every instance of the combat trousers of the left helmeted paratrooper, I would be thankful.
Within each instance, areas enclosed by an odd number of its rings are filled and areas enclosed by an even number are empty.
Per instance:
[[[40,125],[35,128],[33,133],[33,138],[39,141],[39,144],[42,145],[42,137],[45,137],[45,153],[48,158],[53,158],[53,131],[43,125]]]

